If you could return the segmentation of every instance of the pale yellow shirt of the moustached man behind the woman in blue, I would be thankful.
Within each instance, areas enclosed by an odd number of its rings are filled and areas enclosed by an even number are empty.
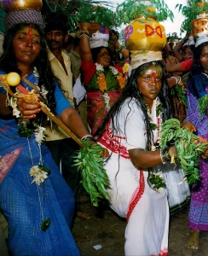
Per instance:
[[[48,56],[49,56],[49,61],[50,65],[52,68],[53,73],[55,74],[55,77],[57,79],[60,79],[61,81],[61,91],[63,92],[64,96],[66,99],[72,104],[73,106],[73,90],[72,90],[72,72],[71,72],[71,61],[68,55],[64,53],[63,51],[61,52],[61,55],[64,59],[64,64],[66,67],[67,75],[62,67],[60,61],[58,61],[55,58],[55,55],[48,50]],[[55,141],[55,140],[60,140],[64,139],[66,137],[69,137],[65,131],[63,131],[59,126],[53,124],[52,130],[50,127],[49,122],[45,122],[43,124],[44,128],[46,128],[46,131],[44,131],[45,134],[45,140],[47,142],[49,141]]]

